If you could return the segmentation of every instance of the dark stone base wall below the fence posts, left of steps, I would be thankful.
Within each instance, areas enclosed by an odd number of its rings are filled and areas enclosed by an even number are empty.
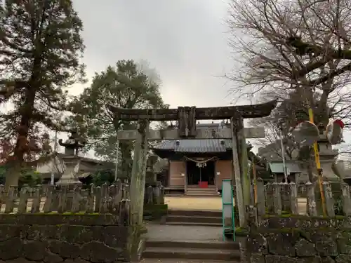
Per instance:
[[[116,215],[0,215],[0,262],[128,262]]]

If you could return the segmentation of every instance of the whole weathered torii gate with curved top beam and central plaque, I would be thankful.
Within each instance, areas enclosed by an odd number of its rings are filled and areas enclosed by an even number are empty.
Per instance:
[[[233,170],[232,182],[236,185],[236,203],[240,226],[245,224],[245,207],[250,204],[250,178],[246,138],[265,137],[260,127],[244,128],[243,119],[268,116],[277,101],[263,104],[231,107],[178,107],[178,109],[120,109],[110,106],[118,121],[138,121],[137,130],[121,130],[118,140],[135,140],[133,169],[131,176],[131,223],[143,222],[143,199],[145,192],[145,172],[149,140],[211,139],[232,140]],[[231,128],[214,130],[196,128],[197,120],[230,119]],[[178,129],[150,130],[150,121],[178,121]],[[241,184],[242,181],[242,184]]]

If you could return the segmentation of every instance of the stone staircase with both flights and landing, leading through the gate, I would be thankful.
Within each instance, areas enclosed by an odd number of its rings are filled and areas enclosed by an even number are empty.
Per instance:
[[[221,211],[168,210],[166,225],[156,227],[142,262],[240,262],[239,242],[222,241]]]

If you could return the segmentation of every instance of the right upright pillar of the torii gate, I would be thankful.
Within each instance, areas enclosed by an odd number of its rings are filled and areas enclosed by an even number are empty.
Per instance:
[[[237,203],[236,212],[239,213],[240,227],[246,227],[245,206],[244,206],[244,200],[243,200],[239,157],[238,157],[238,151],[237,151],[237,130],[235,127],[234,118],[231,119],[230,123],[232,128],[232,154],[233,154],[232,184],[234,184],[235,182],[235,191],[236,191],[235,203]]]

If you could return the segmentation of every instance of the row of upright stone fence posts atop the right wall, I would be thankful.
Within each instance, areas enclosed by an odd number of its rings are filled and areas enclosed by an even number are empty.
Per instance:
[[[263,180],[256,180],[256,208],[258,216],[270,215],[299,215],[299,195],[303,187],[305,195],[305,212],[307,215],[324,215],[322,198],[324,198],[326,216],[351,215],[350,187],[343,182],[323,182],[322,194],[319,184],[307,182],[297,186],[294,182],[263,184]]]

